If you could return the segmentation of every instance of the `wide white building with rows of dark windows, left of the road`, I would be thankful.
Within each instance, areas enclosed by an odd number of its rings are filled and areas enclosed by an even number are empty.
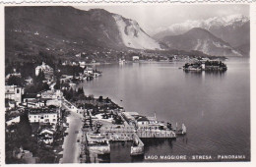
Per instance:
[[[56,109],[31,109],[29,111],[29,120],[31,123],[49,123],[57,124],[58,111]]]

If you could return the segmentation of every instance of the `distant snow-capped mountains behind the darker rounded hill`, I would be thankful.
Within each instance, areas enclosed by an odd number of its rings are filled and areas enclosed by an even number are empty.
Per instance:
[[[250,50],[250,20],[243,15],[214,17],[207,20],[186,21],[160,28],[154,38],[162,40],[166,36],[179,35],[192,28],[204,28],[216,37],[227,42],[234,51],[248,55]]]

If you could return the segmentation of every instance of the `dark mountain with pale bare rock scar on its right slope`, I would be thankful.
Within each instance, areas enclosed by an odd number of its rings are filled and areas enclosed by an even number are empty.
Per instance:
[[[39,50],[72,54],[85,50],[161,49],[136,21],[102,9],[5,8],[6,53]]]

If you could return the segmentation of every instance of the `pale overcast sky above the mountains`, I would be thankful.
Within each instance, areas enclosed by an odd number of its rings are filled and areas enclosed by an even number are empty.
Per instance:
[[[141,28],[152,34],[158,28],[165,28],[187,20],[202,20],[233,14],[249,17],[249,5],[104,5],[104,6],[75,6],[82,10],[102,8],[108,12],[122,15],[124,18],[135,20]]]

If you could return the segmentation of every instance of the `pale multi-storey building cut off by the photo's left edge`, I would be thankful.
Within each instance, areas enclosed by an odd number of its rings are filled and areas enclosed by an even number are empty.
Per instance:
[[[18,85],[5,85],[5,98],[14,100],[16,103],[22,102],[24,88]]]

